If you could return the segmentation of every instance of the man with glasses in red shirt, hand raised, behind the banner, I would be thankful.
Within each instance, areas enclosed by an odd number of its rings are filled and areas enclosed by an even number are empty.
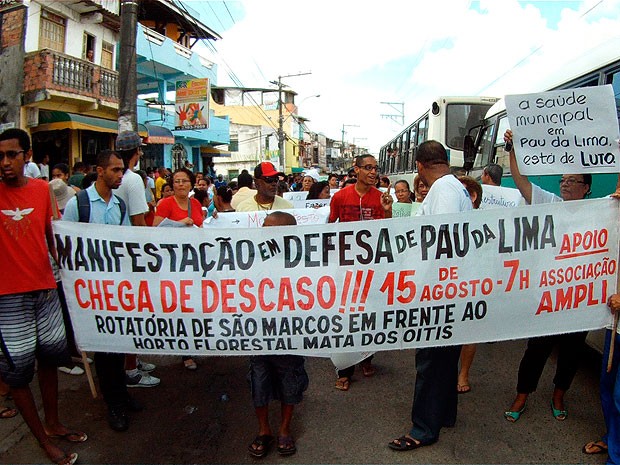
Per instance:
[[[388,187],[387,192],[381,192],[375,187],[377,178],[381,174],[375,157],[368,154],[355,157],[355,165],[352,169],[357,177],[357,182],[334,194],[329,204],[329,222],[392,218],[393,199],[390,195],[390,187]],[[364,376],[374,375],[372,356],[363,360],[361,366]],[[354,372],[355,365],[344,370],[338,370],[336,389],[348,391]]]

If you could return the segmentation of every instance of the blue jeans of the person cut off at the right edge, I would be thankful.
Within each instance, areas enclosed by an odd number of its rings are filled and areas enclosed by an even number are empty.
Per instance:
[[[611,372],[607,373],[607,359],[612,331],[607,330],[605,335],[605,349],[603,350],[603,363],[601,369],[601,407],[607,434],[603,441],[607,443],[609,456],[607,464],[620,465],[620,335],[615,334],[614,358]]]

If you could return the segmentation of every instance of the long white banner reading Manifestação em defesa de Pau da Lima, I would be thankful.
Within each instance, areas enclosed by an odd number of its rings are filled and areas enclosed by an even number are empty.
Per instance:
[[[82,350],[375,352],[604,327],[615,199],[262,229],[54,222]]]

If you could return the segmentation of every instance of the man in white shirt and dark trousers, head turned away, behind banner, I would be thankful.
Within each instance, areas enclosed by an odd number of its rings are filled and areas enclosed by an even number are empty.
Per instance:
[[[438,215],[473,209],[469,193],[450,173],[446,149],[437,141],[420,144],[416,157],[418,175],[430,190],[418,215]],[[409,434],[391,441],[396,451],[408,451],[437,442],[444,426],[456,422],[458,365],[461,346],[416,350],[416,383]]]

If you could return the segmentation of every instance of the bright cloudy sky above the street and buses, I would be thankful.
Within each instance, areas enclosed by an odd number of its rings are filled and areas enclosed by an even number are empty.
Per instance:
[[[620,0],[183,1],[222,36],[206,51],[218,85],[311,73],[282,80],[308,128],[346,125],[374,154],[439,96],[540,92],[620,58]]]

